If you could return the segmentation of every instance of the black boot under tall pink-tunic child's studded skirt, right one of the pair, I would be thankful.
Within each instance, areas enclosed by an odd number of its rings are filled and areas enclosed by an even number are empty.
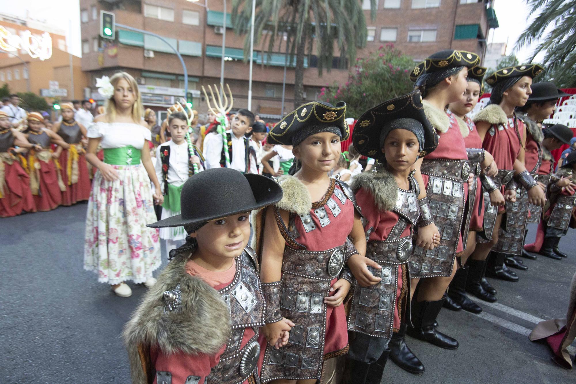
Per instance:
[[[419,340],[430,342],[437,347],[445,349],[458,348],[458,341],[434,329],[436,317],[442,309],[444,298],[434,302],[416,302],[412,306],[413,327],[408,328],[408,334]]]

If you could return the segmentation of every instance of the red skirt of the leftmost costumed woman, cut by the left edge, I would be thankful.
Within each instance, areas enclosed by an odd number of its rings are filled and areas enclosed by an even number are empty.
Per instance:
[[[30,177],[18,161],[0,159],[3,168],[3,185],[0,186],[0,217],[12,217],[24,212],[36,212],[30,191]],[[0,182],[2,182],[0,178]]]

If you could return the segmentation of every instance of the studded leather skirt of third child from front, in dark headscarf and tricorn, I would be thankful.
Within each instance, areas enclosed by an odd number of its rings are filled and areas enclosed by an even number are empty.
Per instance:
[[[348,330],[388,340],[392,337],[398,278],[401,278],[398,265],[406,265],[411,249],[412,236],[392,241],[374,240],[367,244],[366,257],[382,267],[369,270],[382,280],[370,287],[358,284],[354,287],[348,313]]]

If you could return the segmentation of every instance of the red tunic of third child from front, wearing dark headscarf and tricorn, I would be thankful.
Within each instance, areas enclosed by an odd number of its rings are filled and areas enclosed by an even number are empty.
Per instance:
[[[390,231],[394,227],[394,225],[400,219],[400,215],[392,210],[386,210],[382,212],[376,207],[374,203],[374,197],[372,193],[366,191],[365,189],[359,189],[356,193],[356,201],[360,208],[362,208],[362,214],[364,218],[367,220],[367,223],[364,227],[364,231],[366,232],[369,228],[374,228],[372,233],[370,233],[370,237],[368,241],[379,240],[384,241],[388,238]],[[412,225],[408,222],[406,229],[400,235],[400,237],[410,236],[410,228]],[[406,265],[397,265],[398,267],[398,276],[402,276],[402,267]],[[392,327],[394,329],[400,328],[400,316],[399,316],[399,308],[398,308],[398,299],[400,298],[400,293],[402,291],[403,281],[401,278],[398,278],[398,286],[396,292],[396,304],[394,308],[394,323]]]

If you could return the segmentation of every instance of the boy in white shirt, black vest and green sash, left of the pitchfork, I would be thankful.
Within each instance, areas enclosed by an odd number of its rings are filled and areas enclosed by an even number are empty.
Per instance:
[[[172,138],[156,149],[156,176],[163,183],[164,204],[161,219],[180,214],[180,193],[184,182],[196,172],[204,170],[204,157],[187,139],[188,121],[182,112],[174,112],[168,118],[168,130]],[[160,228],[164,243],[162,257],[170,250],[184,244],[187,234],[184,227]]]

